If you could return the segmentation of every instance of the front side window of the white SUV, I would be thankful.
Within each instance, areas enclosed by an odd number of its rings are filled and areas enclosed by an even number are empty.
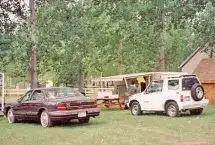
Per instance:
[[[162,90],[163,90],[163,81],[154,81],[147,88],[146,94],[162,92]]]

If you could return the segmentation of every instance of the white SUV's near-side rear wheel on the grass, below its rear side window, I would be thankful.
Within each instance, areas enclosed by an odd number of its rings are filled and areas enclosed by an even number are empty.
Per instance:
[[[180,111],[176,102],[169,102],[165,107],[166,113],[169,117],[179,117]]]

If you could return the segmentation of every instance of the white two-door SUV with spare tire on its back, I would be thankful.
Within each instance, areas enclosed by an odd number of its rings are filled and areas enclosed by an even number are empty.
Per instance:
[[[192,115],[201,115],[208,103],[196,75],[177,75],[153,81],[144,92],[131,96],[128,106],[133,115],[151,111],[179,117],[188,110]]]

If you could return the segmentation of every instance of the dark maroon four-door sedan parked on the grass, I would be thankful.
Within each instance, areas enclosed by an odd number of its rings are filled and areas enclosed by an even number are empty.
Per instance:
[[[72,119],[88,123],[90,117],[99,116],[100,109],[95,100],[72,88],[40,88],[28,91],[15,103],[6,104],[4,114],[9,123],[35,120],[43,127],[50,127],[55,121]]]

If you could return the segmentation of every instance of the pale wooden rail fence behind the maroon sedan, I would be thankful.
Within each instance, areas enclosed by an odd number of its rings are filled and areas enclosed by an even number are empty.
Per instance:
[[[77,90],[77,88],[76,88]],[[114,88],[84,88],[86,96],[95,98],[98,92],[113,91]],[[5,101],[11,102],[22,97],[26,93],[26,89],[5,89]]]

